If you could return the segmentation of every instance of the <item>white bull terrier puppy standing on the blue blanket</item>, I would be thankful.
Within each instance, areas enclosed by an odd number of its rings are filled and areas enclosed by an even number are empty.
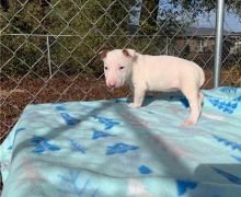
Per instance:
[[[173,56],[150,56],[134,49],[114,49],[100,53],[104,61],[106,84],[119,88],[128,83],[134,91],[134,103],[140,107],[147,91],[172,92],[181,90],[190,103],[191,115],[182,126],[195,125],[199,118],[204,84],[203,69],[193,61]]]

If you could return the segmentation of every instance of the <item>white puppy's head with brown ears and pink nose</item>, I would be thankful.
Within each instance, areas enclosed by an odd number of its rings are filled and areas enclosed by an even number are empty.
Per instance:
[[[100,53],[100,57],[104,62],[107,86],[119,88],[126,82],[133,71],[135,55],[134,49],[103,50]]]

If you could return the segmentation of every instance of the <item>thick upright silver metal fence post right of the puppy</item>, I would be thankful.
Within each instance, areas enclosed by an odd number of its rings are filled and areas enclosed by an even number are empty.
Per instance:
[[[217,0],[216,12],[216,40],[215,40],[215,72],[214,72],[214,88],[220,85],[220,68],[222,55],[222,33],[223,33],[223,18],[225,18],[225,0]]]

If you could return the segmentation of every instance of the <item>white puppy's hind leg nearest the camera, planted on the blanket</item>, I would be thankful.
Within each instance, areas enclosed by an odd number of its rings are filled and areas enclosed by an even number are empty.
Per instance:
[[[182,126],[195,125],[200,115],[200,105],[203,99],[198,93],[198,89],[193,85],[186,85],[182,89],[183,94],[186,96],[190,103],[190,117],[186,121],[182,124]]]

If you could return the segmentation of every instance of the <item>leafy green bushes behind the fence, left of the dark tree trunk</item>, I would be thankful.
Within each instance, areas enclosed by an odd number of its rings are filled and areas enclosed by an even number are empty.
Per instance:
[[[47,76],[45,35],[49,35],[53,72],[60,70],[67,74],[88,72],[100,76],[103,69],[95,58],[97,51],[125,47],[129,43],[125,35],[129,31],[128,11],[135,0],[45,2],[47,4],[43,7],[38,1],[10,0],[8,12],[1,11],[2,73],[24,74],[31,70]]]

